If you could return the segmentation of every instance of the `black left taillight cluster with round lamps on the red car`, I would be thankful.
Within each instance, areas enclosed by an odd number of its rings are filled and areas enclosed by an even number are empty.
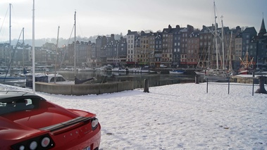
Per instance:
[[[36,150],[36,149],[51,149],[54,147],[54,141],[51,139],[49,135],[43,135],[40,137],[34,137],[32,139],[25,140],[23,142],[20,142],[18,144],[12,145],[12,149],[15,150]]]

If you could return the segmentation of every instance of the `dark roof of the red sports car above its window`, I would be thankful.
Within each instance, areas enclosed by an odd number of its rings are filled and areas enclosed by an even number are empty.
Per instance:
[[[21,96],[37,96],[36,94],[21,91],[0,91],[0,101]],[[39,97],[39,96],[37,96]]]

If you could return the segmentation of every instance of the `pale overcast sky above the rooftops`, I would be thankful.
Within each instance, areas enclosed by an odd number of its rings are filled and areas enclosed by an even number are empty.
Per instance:
[[[255,27],[267,21],[266,0],[216,0],[218,19],[230,28]],[[32,0],[0,1],[0,42],[9,40],[9,4],[11,7],[11,39],[18,39],[25,27],[25,39],[32,39]],[[213,0],[35,0],[35,39],[68,39],[76,18],[76,35],[126,35],[128,30],[156,32],[171,25],[214,23]],[[263,15],[264,14],[264,15]],[[219,22],[220,20],[217,20]],[[220,21],[221,22],[221,21]],[[74,31],[71,37],[74,37]]]

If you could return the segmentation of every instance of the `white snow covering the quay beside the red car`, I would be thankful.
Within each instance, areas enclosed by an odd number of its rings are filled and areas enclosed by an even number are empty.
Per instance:
[[[267,94],[255,85],[176,84],[112,94],[36,92],[66,108],[97,114],[101,150],[267,149]],[[265,85],[267,89],[267,86]],[[31,89],[0,85],[0,90]]]

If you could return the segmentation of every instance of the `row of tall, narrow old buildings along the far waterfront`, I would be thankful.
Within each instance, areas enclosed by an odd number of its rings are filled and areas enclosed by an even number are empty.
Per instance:
[[[217,31],[217,34],[214,31]],[[219,35],[218,39],[215,35]],[[217,45],[215,44],[217,40]],[[254,27],[242,30],[204,26],[201,30],[192,25],[180,27],[168,25],[162,32],[137,32],[128,30],[128,34],[120,39],[99,36],[96,42],[73,42],[56,48],[56,44],[46,43],[35,47],[37,65],[58,65],[68,67],[100,67],[103,65],[140,66],[150,65],[158,68],[207,68],[214,65],[216,53],[224,60],[226,68],[238,69],[240,58],[246,52],[254,58],[254,68],[266,68],[267,35],[264,20],[259,33]],[[216,51],[216,47],[218,51]],[[32,47],[30,45],[0,44],[1,66],[32,65]]]

